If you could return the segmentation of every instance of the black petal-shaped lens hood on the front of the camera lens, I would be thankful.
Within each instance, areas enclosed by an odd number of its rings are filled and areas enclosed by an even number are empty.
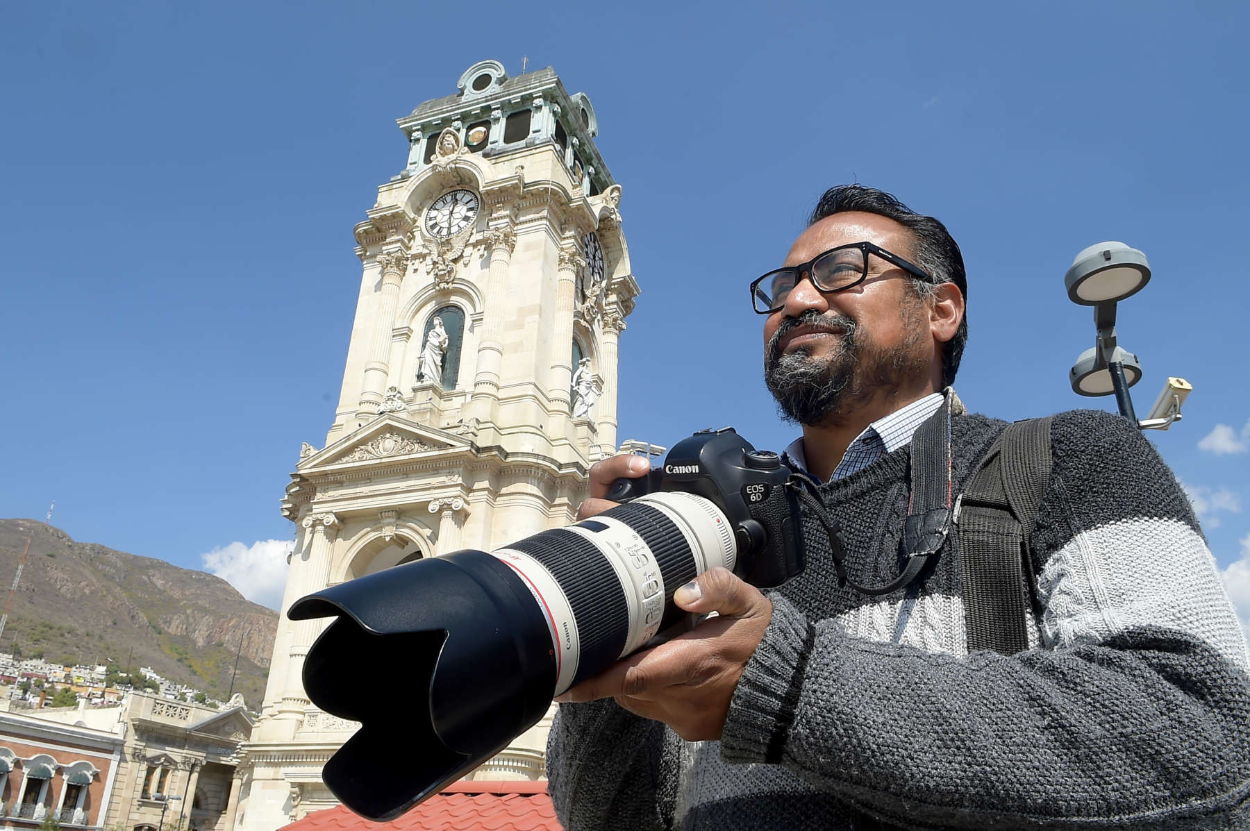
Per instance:
[[[336,617],[309,650],[304,689],[325,712],[361,722],[324,780],[370,820],[394,819],[465,775],[551,704],[555,656],[541,607],[482,551],[331,586],[288,616]],[[379,667],[392,671],[379,681]]]

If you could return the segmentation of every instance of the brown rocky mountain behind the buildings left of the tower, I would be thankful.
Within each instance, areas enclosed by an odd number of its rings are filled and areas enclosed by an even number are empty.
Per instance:
[[[0,520],[0,596],[8,596],[31,532],[0,651],[16,642],[24,656],[42,651],[54,662],[149,666],[225,700],[241,641],[234,690],[260,709],[276,611],[205,571],[75,542],[36,520]]]

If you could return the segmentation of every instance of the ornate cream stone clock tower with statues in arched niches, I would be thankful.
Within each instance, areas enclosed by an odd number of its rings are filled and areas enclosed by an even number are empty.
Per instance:
[[[245,831],[335,805],[321,766],[356,727],[309,701],[304,657],[325,621],[289,621],[290,604],[568,525],[590,465],[616,452],[618,340],[639,289],[590,99],[550,67],[511,77],[488,60],[399,126],[404,167],[355,227],[362,275],[334,421],[282,500],[295,547],[239,766]],[[360,695],[406,719],[409,670],[404,655],[359,667]],[[542,777],[549,724],[472,776]]]

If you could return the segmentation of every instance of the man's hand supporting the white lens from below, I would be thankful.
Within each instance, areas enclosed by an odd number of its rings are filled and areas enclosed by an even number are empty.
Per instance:
[[[686,741],[720,739],[742,669],[772,620],[772,602],[726,569],[714,569],[678,589],[681,609],[716,617],[641,650],[570,689],[556,701],[616,702],[662,721]]]

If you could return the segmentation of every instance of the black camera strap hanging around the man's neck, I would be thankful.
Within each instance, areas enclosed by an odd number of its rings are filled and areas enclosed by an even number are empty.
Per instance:
[[[846,552],[842,547],[840,526],[829,516],[815,484],[806,476],[792,476],[788,486],[816,517],[829,535],[838,580],[865,595],[889,595],[906,586],[938,556],[950,532],[954,484],[951,471],[954,456],[950,442],[950,411],[952,391],[948,387],[941,407],[916,427],[911,437],[911,465],[908,471],[910,497],[908,519],[904,522],[902,542],[908,551],[906,564],[898,577],[884,586],[861,586],[846,576]]]

